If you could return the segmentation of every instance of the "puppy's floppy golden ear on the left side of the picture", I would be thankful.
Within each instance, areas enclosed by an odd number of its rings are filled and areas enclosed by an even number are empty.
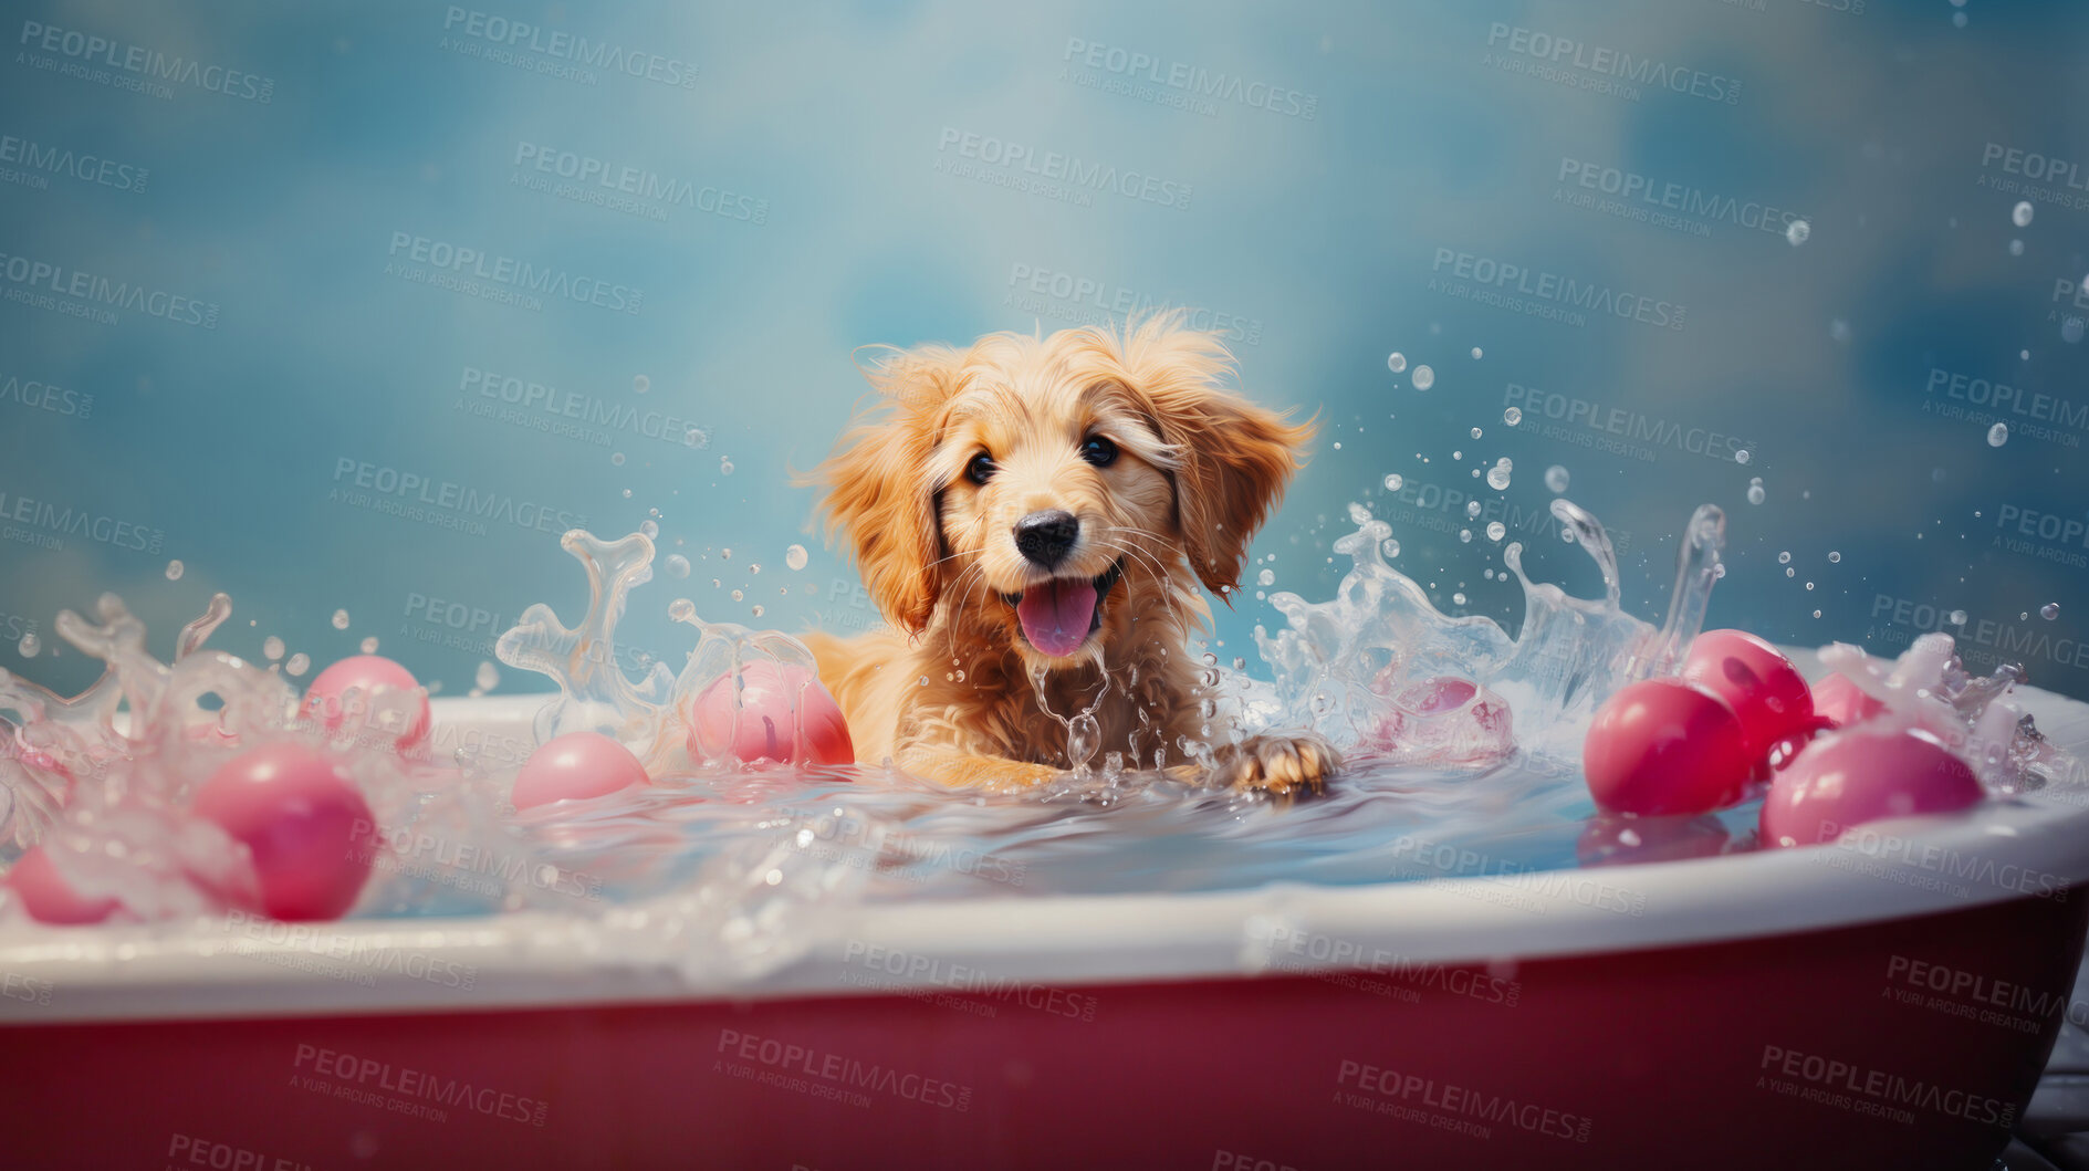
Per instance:
[[[846,532],[871,601],[909,635],[928,626],[942,595],[942,526],[928,478],[936,415],[957,390],[948,346],[890,351],[863,376],[879,401],[861,411],[811,480],[827,488],[827,539]]]

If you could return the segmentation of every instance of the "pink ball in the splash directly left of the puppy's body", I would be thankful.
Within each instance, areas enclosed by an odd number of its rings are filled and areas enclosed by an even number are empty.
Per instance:
[[[727,745],[742,764],[854,764],[856,745],[840,703],[804,666],[750,662],[740,668],[740,720],[733,716],[733,680],[706,687],[689,712],[689,756],[704,760],[704,745]],[[794,718],[796,708],[796,718]],[[794,728],[802,728],[798,739]]]

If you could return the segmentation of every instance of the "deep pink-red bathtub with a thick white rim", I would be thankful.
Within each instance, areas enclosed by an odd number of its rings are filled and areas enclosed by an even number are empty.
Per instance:
[[[96,1169],[1987,1167],[2085,912],[2089,804],[2033,795],[1817,850],[867,906],[746,977],[537,912],[10,927],[0,1123]]]

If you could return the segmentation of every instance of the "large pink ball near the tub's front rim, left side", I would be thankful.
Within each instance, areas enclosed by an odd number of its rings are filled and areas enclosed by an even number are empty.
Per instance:
[[[261,910],[276,918],[341,918],[370,877],[370,804],[332,758],[297,741],[234,756],[194,808],[253,852]]]

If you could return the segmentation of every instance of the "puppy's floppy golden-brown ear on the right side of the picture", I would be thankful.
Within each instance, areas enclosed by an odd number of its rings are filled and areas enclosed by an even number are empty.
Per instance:
[[[1226,344],[1182,328],[1180,315],[1128,326],[1122,359],[1176,453],[1176,524],[1191,570],[1230,605],[1247,545],[1304,465],[1316,428],[1226,390],[1222,380],[1233,369]]]

